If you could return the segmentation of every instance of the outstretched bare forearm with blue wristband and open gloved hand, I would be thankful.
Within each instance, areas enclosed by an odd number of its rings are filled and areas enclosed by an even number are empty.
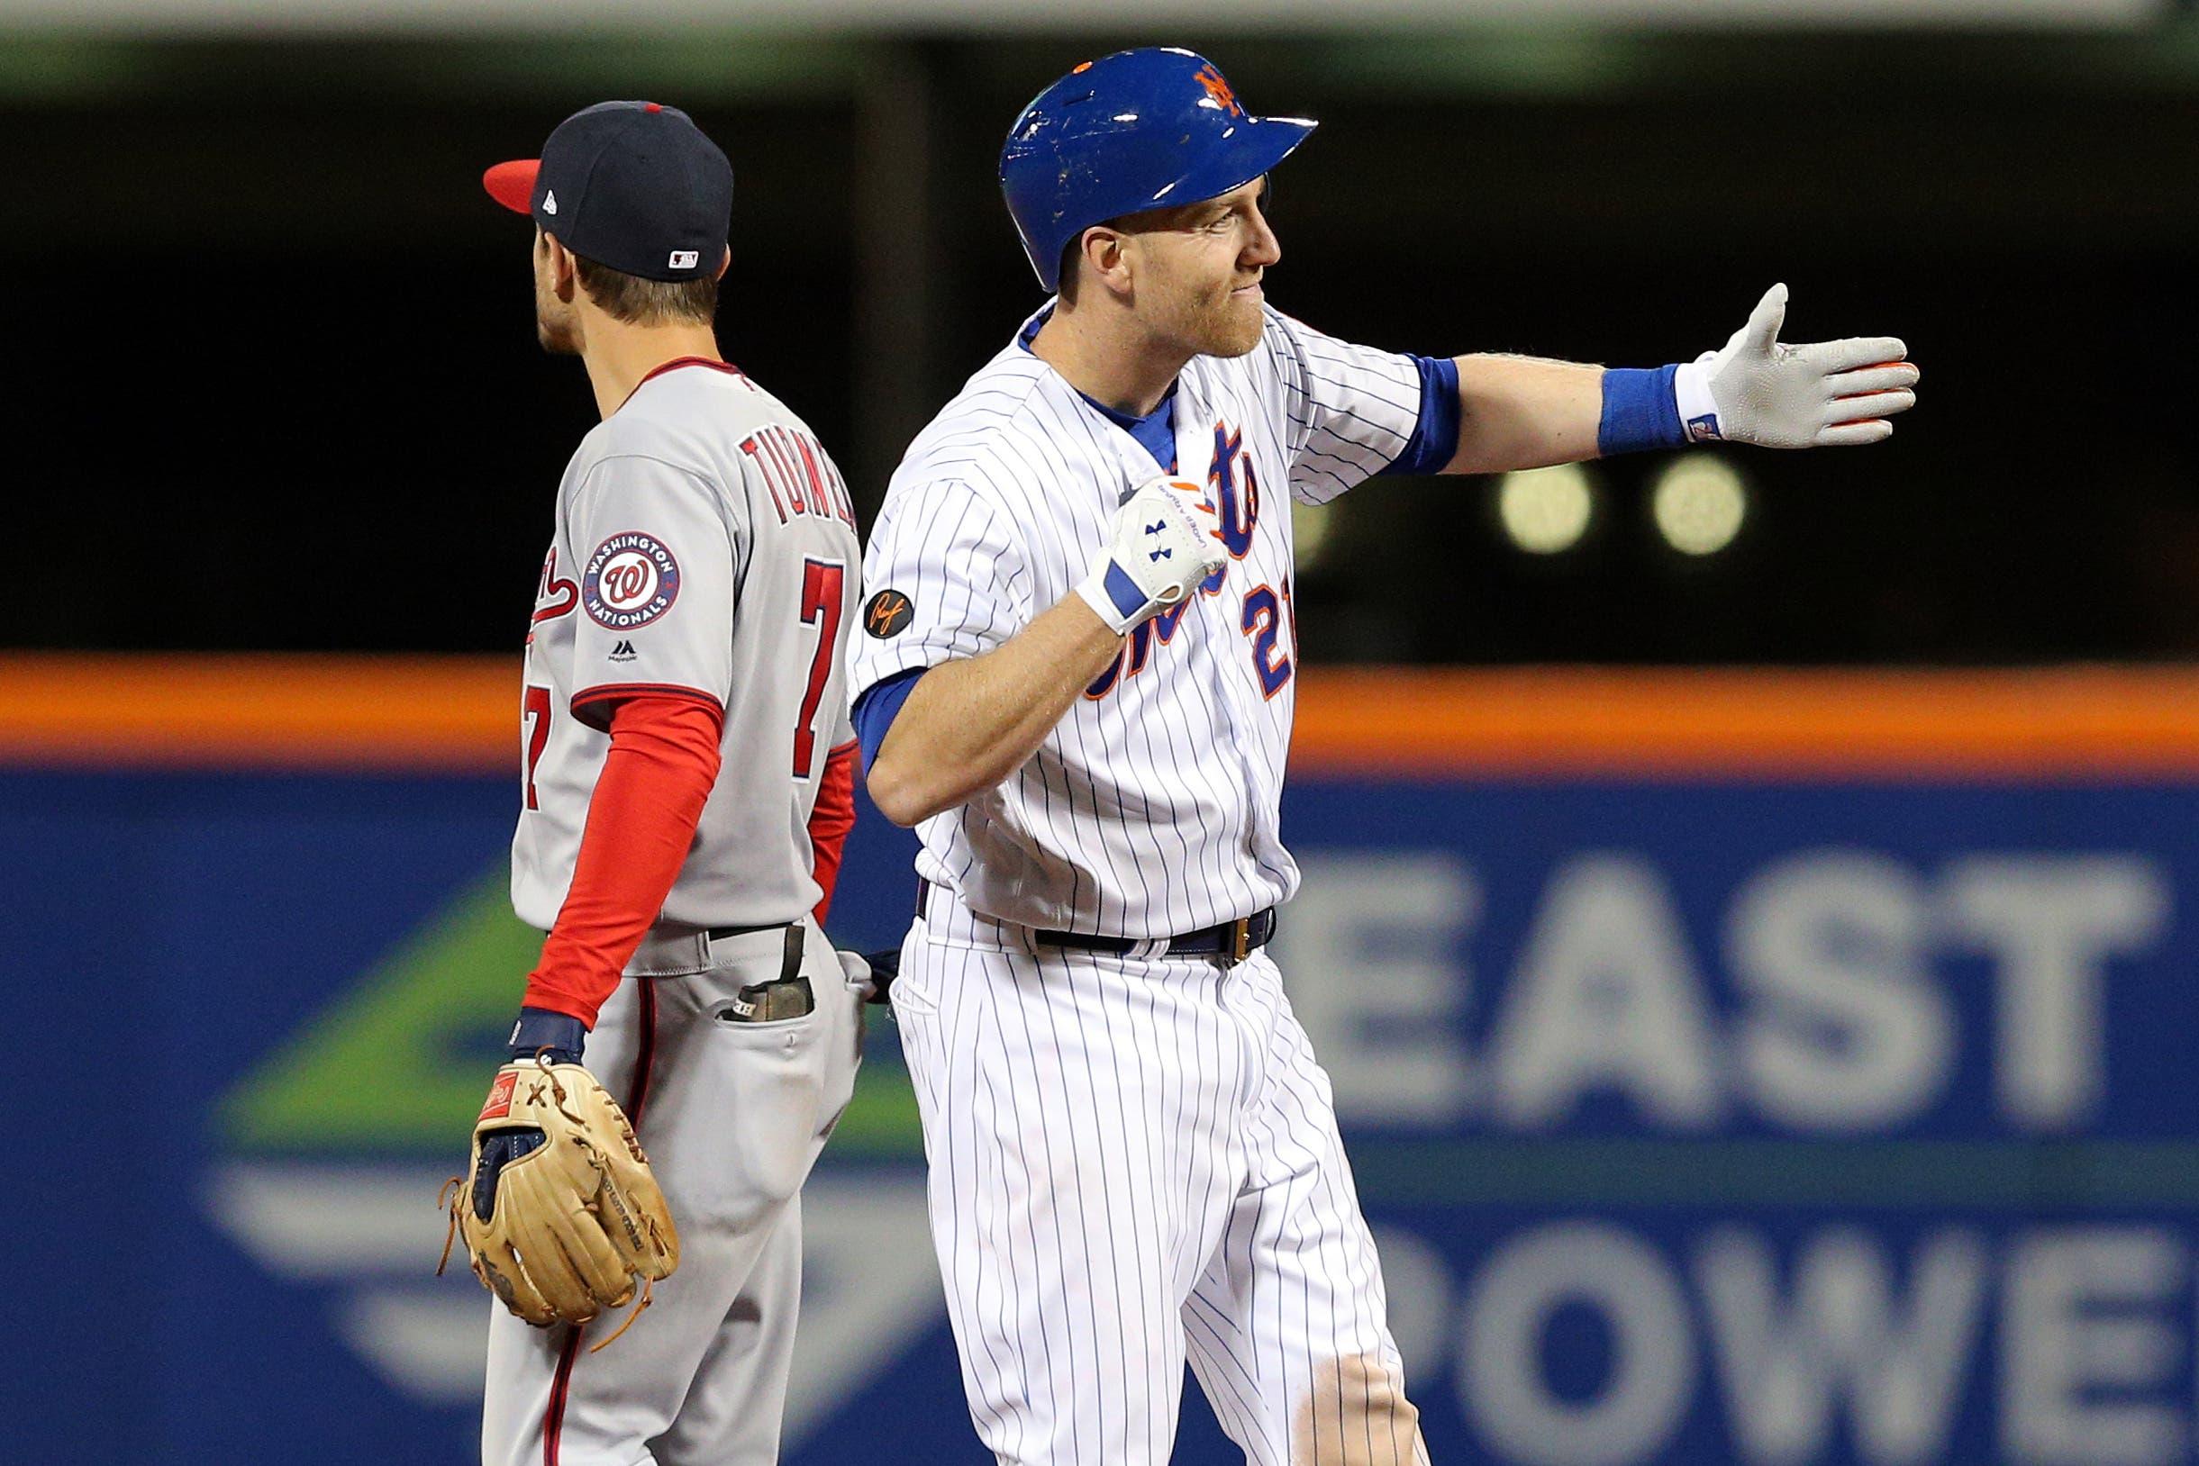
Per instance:
[[[1720,352],[1654,371],[1528,356],[1458,358],[1458,453],[1445,473],[1506,473],[1687,442],[1834,448],[1880,442],[1915,407],[1896,336],[1788,345],[1772,286]]]

